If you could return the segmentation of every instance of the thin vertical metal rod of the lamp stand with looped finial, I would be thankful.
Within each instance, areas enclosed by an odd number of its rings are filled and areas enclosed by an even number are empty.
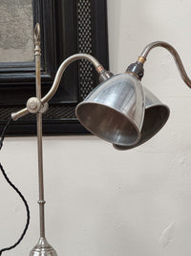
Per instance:
[[[41,100],[41,77],[40,77],[40,27],[36,24],[34,29],[34,56],[35,56],[35,82],[36,97]],[[44,214],[44,179],[43,179],[43,151],[42,151],[42,113],[36,114],[37,123],[37,148],[38,148],[38,182],[39,182],[39,218],[40,218],[40,237],[45,238],[45,214]]]

